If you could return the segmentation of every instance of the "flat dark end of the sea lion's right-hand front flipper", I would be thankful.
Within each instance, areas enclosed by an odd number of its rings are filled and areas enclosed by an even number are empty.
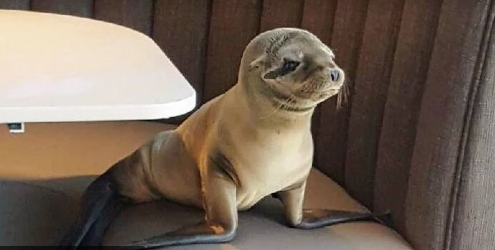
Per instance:
[[[390,213],[362,213],[329,209],[304,209],[303,219],[296,228],[314,229],[353,221],[375,221],[391,226]]]

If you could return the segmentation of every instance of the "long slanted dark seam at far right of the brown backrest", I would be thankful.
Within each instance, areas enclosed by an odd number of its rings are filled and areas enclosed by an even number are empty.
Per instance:
[[[459,149],[457,153],[457,160],[455,164],[455,172],[454,172],[454,182],[451,192],[451,198],[449,202],[449,207],[447,211],[447,225],[444,236],[444,250],[449,250],[452,247],[452,235],[454,232],[455,226],[455,215],[457,213],[457,206],[459,200],[459,190],[461,186],[461,179],[463,173],[465,173],[465,156],[466,156],[466,148],[468,141],[470,139],[470,129],[473,122],[473,112],[475,108],[475,100],[478,95],[479,85],[481,84],[481,77],[483,72],[486,71],[486,57],[489,49],[489,41],[491,40],[492,34],[489,32],[493,27],[493,1],[489,2],[490,6],[488,7],[486,13],[486,21],[484,22],[483,27],[483,35],[481,38],[481,42],[479,45],[478,58],[477,63],[475,65],[475,70],[473,73],[473,78],[471,80],[469,94],[468,94],[468,104],[466,106],[466,110],[464,111],[464,122],[462,127],[462,138],[459,143]]]

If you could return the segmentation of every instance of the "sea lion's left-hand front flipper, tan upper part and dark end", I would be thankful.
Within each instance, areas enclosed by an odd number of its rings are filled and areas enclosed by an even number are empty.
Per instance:
[[[216,168],[212,166],[212,168]],[[232,240],[237,230],[236,186],[224,172],[206,170],[203,176],[205,222],[187,226],[127,245],[130,249],[223,243]]]

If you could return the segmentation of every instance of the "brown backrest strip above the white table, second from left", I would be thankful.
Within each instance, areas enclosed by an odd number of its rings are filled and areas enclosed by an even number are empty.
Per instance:
[[[31,9],[73,16],[91,17],[93,0],[32,0]]]

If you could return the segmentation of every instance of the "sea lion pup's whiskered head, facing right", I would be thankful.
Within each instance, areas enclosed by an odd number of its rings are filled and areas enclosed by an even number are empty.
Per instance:
[[[321,102],[347,95],[344,71],[318,37],[297,28],[265,31],[246,46],[239,78],[278,110],[307,113]]]

